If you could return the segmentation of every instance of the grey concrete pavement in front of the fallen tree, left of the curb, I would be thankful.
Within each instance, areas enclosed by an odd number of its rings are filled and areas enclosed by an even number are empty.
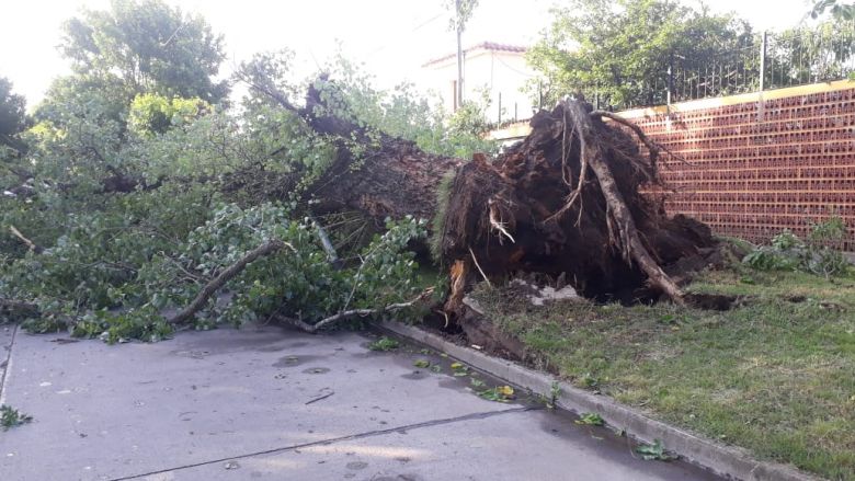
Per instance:
[[[535,403],[480,399],[452,359],[375,353],[358,333],[0,334],[2,402],[34,417],[0,432],[3,481],[716,479]]]

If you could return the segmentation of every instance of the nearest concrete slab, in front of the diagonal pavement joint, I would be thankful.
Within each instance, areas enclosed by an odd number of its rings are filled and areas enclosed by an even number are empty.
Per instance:
[[[144,477],[233,480],[713,480],[686,465],[643,461],[547,411],[503,413],[231,459]]]

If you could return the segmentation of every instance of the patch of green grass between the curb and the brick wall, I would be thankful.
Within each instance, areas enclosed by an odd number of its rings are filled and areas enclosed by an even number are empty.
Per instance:
[[[855,276],[734,268],[688,290],[746,300],[719,312],[474,295],[542,369],[760,458],[855,480]]]

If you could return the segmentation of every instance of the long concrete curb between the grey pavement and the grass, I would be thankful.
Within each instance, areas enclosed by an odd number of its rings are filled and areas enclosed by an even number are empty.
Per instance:
[[[560,388],[557,399],[559,408],[574,413],[595,412],[603,416],[608,425],[624,430],[628,436],[640,442],[652,443],[653,439],[661,439],[670,451],[676,453],[688,462],[706,468],[716,474],[743,481],[820,480],[820,478],[803,473],[791,466],[759,461],[752,458],[745,449],[725,446],[687,433],[656,421],[612,398],[593,394],[544,373],[454,344],[421,329],[390,321],[377,325],[383,331],[444,352],[476,369],[536,393],[550,396],[552,386],[557,383]]]

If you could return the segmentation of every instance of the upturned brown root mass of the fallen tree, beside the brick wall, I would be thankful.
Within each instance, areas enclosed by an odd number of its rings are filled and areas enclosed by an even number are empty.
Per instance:
[[[457,171],[442,226],[442,256],[452,265],[446,311],[459,313],[467,283],[477,279],[469,260],[487,278],[540,273],[597,299],[663,295],[683,304],[663,267],[716,242],[706,226],[668,218],[642,194],[659,184],[659,146],[631,123],[577,101],[538,113],[532,127],[495,161],[476,158]]]

